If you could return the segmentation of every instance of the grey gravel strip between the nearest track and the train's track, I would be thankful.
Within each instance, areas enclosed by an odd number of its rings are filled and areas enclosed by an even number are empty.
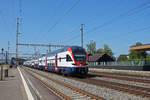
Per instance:
[[[39,71],[39,70],[36,70],[36,71],[38,71],[44,75],[47,75],[53,79],[57,79],[59,81],[70,84],[74,87],[88,91],[89,93],[94,94],[96,96],[103,97],[106,100],[149,100],[149,98],[146,98],[146,97],[144,98],[141,96],[136,96],[136,95],[125,93],[125,92],[116,91],[116,90],[113,90],[110,88],[104,88],[104,87],[99,87],[99,86],[92,85],[92,84],[87,84],[84,82],[64,78],[64,77],[59,76],[57,74],[47,73],[47,72]]]

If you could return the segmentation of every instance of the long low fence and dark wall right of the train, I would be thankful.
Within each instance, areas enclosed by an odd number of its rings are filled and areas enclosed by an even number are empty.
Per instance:
[[[150,70],[150,61],[89,62],[89,68],[118,70]]]

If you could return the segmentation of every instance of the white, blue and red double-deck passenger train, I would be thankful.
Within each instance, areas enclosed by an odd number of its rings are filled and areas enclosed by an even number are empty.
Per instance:
[[[24,62],[24,66],[61,74],[88,73],[87,52],[80,46],[69,46]]]

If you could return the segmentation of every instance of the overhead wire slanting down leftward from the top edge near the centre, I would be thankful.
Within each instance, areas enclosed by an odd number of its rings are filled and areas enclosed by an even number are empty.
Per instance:
[[[48,32],[50,32],[51,30],[53,30],[53,29],[55,28],[55,26],[56,26],[57,24],[59,24],[60,21],[61,21],[67,14],[69,14],[69,12],[71,12],[71,10],[72,10],[79,2],[80,2],[80,0],[77,0],[77,1],[72,5],[72,7],[71,7],[67,12],[65,12],[64,15],[63,15],[62,17],[60,17],[60,18],[52,25],[52,27],[49,28]]]

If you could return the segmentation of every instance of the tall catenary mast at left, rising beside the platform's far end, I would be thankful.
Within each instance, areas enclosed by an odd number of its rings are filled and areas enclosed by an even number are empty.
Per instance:
[[[18,65],[18,35],[19,33],[19,18],[17,18],[17,30],[16,30],[16,66]]]

